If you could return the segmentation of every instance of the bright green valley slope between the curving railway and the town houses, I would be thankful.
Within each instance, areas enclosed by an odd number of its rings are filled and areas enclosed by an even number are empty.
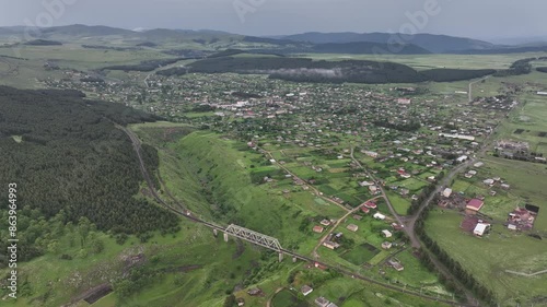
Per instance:
[[[189,169],[196,173],[201,169],[198,178],[213,178],[208,184],[217,201],[236,210],[232,220],[247,228],[279,238],[282,246],[310,239],[298,229],[302,217],[293,217],[293,214],[298,210],[310,215],[317,212],[293,202],[298,196],[286,198],[267,186],[252,185],[248,175],[251,165],[254,164],[252,158],[259,155],[248,151],[241,152],[234,145],[234,141],[222,140],[217,134],[195,132],[178,142],[175,150],[183,161],[194,162],[188,165]]]

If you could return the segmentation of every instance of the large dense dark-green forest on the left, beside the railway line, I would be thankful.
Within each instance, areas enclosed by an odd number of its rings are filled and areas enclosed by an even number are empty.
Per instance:
[[[113,123],[156,118],[82,96],[0,86],[1,205],[8,208],[8,185],[15,182],[20,220],[32,214],[30,220],[47,221],[62,212],[65,223],[84,216],[113,234],[175,231],[175,215],[136,197],[143,181],[139,162],[129,138]],[[143,158],[150,172],[158,168],[154,149],[143,147]],[[25,237],[25,226],[18,226]],[[3,241],[7,228],[0,229]]]

